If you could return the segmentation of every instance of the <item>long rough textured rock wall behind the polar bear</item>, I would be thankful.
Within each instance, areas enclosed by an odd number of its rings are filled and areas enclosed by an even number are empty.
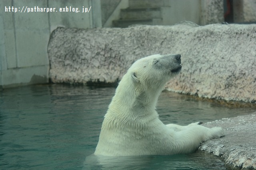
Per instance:
[[[139,58],[179,53],[182,71],[166,84],[168,90],[256,102],[255,49],[256,24],[57,28],[48,44],[50,79],[116,84]]]

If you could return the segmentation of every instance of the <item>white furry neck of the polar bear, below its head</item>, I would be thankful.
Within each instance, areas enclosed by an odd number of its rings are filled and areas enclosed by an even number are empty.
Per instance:
[[[105,117],[110,114],[120,119],[137,119],[142,117],[158,117],[156,103],[164,84],[150,88],[138,88],[138,85],[131,82],[129,74],[124,75],[120,81],[115,96],[112,98]]]

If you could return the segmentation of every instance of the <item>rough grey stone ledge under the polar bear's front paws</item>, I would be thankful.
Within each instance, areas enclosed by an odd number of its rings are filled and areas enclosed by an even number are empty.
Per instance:
[[[221,156],[229,169],[256,169],[256,112],[203,125],[223,127],[226,135],[202,143],[199,150]]]

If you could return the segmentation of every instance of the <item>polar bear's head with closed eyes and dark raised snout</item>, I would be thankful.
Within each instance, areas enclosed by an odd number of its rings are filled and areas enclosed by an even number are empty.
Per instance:
[[[131,83],[143,90],[162,90],[166,82],[180,72],[180,57],[179,54],[144,57],[132,64],[126,76],[130,76]]]

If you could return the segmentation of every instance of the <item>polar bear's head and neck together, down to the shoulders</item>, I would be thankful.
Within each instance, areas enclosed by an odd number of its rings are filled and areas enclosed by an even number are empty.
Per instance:
[[[166,82],[180,72],[180,57],[158,54],[137,60],[119,82],[112,104],[153,109]]]

